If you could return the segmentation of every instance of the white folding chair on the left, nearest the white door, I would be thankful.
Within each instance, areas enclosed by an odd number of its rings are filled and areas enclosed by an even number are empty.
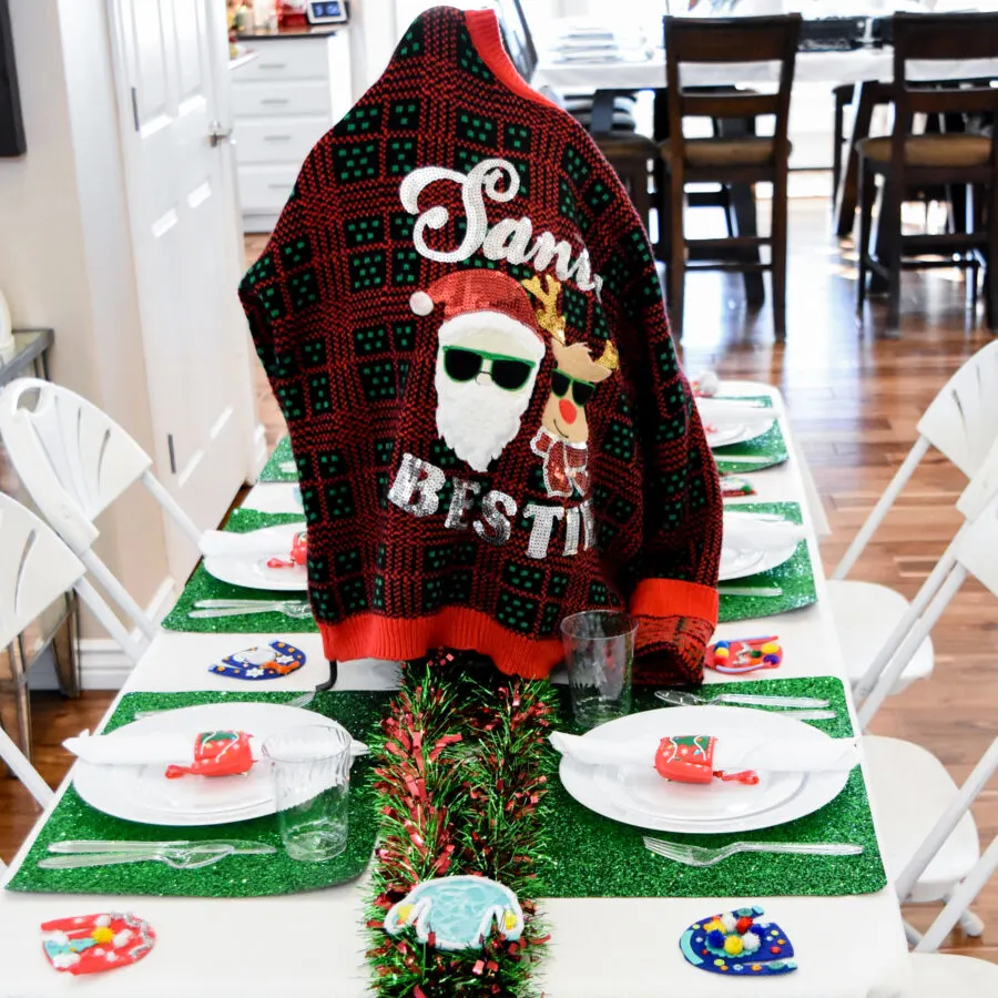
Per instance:
[[[152,639],[155,623],[93,551],[100,533],[94,520],[136,481],[198,543],[201,531],[152,473],[152,459],[96,406],[37,378],[19,378],[0,393],[0,436],[42,516],[112,602]]]

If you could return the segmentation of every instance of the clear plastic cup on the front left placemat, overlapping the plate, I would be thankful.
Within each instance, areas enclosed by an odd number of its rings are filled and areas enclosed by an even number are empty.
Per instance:
[[[349,834],[350,735],[319,724],[276,732],[263,744],[271,762],[281,838],[292,859],[338,856]]]

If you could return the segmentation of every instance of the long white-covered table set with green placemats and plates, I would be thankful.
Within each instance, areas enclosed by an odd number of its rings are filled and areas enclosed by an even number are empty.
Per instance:
[[[780,617],[722,624],[719,637],[736,638],[746,630],[778,634],[785,650],[781,676],[837,676],[846,681],[838,635],[824,598],[825,579],[809,502],[813,493],[802,473],[804,466],[780,393],[751,383],[727,383],[723,388],[729,394],[767,391],[773,398],[790,458],[780,467],[748,476],[758,493],[751,501],[801,505],[818,599],[805,609]],[[288,483],[256,485],[244,507],[268,512],[299,511],[294,487]],[[152,691],[238,692],[245,684],[213,674],[207,665],[235,646],[282,638],[288,635],[161,631],[120,696]],[[289,640],[306,652],[307,663],[284,676],[281,689],[312,690],[328,675],[319,638],[296,633]],[[389,690],[396,678],[396,663],[347,662],[340,664],[336,689]],[[709,682],[716,679],[715,673],[709,673]],[[742,681],[751,685],[752,675]],[[855,725],[848,693],[847,700]],[[112,705],[108,716],[113,709]],[[72,778],[71,768],[57,798]],[[22,845],[11,874],[20,867],[47,816],[48,812]],[[607,856],[607,863],[612,864],[613,856]],[[711,998],[735,991],[787,998],[865,996],[886,976],[904,972],[899,968],[905,964],[906,943],[890,883],[897,863],[888,855],[884,855],[884,863],[887,886],[873,894],[853,896],[541,900],[551,938],[540,984],[547,998],[652,998],[666,994]],[[84,992],[101,998],[194,998],[218,994],[241,998],[289,994],[361,998],[370,994],[370,972],[364,957],[366,889],[365,875],[328,889],[241,899],[0,892],[0,998]],[[761,904],[768,917],[778,919],[792,933],[796,972],[752,985],[732,985],[721,975],[704,974],[684,963],[678,940],[685,927],[709,913],[752,904]],[[133,912],[150,921],[157,934],[154,951],[135,966],[92,980],[54,972],[42,954],[39,926],[49,919],[102,910]]]

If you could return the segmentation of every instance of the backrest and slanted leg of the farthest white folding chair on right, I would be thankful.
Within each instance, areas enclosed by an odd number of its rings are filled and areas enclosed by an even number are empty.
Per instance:
[[[918,420],[918,439],[832,573],[844,579],[884,520],[929,445],[974,478],[998,440],[998,339],[981,347],[943,386]],[[978,483],[982,486],[982,482]],[[965,493],[966,496],[966,493]],[[968,516],[957,503],[957,508]]]

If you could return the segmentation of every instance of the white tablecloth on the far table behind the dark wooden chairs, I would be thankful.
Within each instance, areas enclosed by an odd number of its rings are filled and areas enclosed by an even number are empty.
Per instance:
[[[688,63],[682,69],[684,86],[721,86],[739,83],[776,83],[780,63],[743,62],[723,65]],[[998,60],[965,59],[938,62],[912,62],[908,75],[914,80],[960,80],[998,77]],[[798,52],[795,83],[860,83],[864,80],[894,79],[893,49],[856,49],[849,52]],[[556,62],[542,59],[532,85],[562,92],[593,90],[652,90],[665,86],[665,52],[655,49],[641,62]]]

